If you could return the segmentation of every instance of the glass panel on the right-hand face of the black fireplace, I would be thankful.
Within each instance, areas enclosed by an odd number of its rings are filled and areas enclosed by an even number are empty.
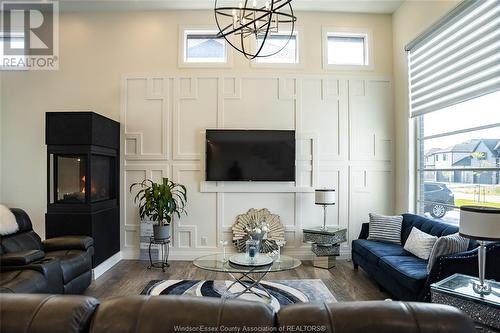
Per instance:
[[[92,176],[92,184],[90,185],[90,200],[92,202],[115,198],[114,164],[114,157],[92,155],[90,163]]]

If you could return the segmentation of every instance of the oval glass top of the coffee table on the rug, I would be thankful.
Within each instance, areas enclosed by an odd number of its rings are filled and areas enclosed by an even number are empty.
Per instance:
[[[196,258],[193,261],[193,264],[196,267],[206,269],[208,271],[228,273],[248,273],[250,271],[252,273],[281,272],[297,268],[301,265],[300,260],[281,255],[279,259],[273,257],[273,263],[268,266],[237,266],[229,262],[229,258],[232,255],[233,254],[226,254],[226,258],[224,260],[224,255],[222,253],[210,254]]]

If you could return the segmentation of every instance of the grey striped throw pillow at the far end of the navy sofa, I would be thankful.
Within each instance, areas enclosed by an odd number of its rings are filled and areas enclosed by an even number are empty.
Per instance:
[[[368,239],[401,245],[403,216],[385,216],[370,213]]]

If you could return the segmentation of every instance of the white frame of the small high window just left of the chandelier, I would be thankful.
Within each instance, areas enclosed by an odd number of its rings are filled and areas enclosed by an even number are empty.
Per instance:
[[[179,54],[178,66],[180,68],[230,68],[233,66],[233,53],[232,47],[224,40],[225,43],[225,61],[224,62],[189,62],[186,61],[186,33],[192,31],[199,31],[200,33],[214,32],[217,33],[218,29],[214,26],[201,26],[201,25],[181,25],[179,26]]]

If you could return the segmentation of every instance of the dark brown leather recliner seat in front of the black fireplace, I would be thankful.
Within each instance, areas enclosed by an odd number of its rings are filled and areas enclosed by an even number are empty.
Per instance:
[[[19,230],[0,238],[0,292],[83,293],[92,281],[92,238],[67,236],[42,242],[26,212],[11,211]]]

